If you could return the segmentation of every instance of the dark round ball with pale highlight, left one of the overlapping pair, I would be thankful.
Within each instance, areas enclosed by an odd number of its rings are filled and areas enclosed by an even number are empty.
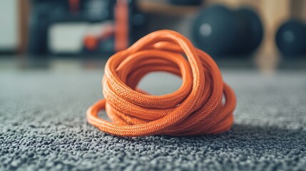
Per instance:
[[[235,46],[237,26],[233,11],[221,5],[210,6],[193,21],[195,45],[213,56],[226,55]]]

